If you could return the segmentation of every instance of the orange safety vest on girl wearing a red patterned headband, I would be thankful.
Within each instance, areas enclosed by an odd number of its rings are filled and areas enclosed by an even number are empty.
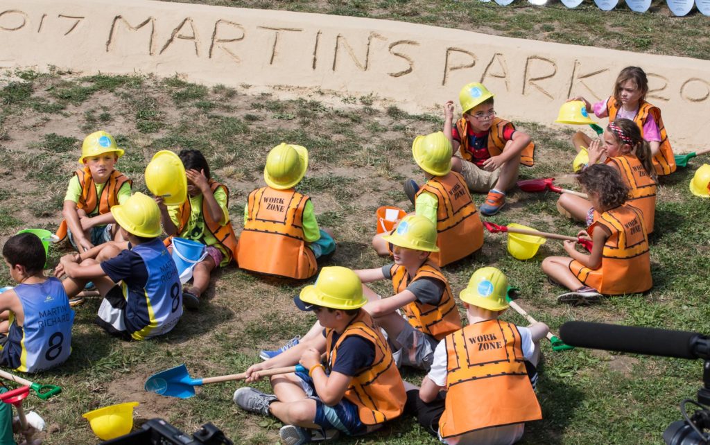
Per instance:
[[[641,211],[646,233],[652,234],[656,214],[656,182],[634,155],[607,158],[606,163],[613,165],[621,173],[623,181],[630,189],[626,203]]]

